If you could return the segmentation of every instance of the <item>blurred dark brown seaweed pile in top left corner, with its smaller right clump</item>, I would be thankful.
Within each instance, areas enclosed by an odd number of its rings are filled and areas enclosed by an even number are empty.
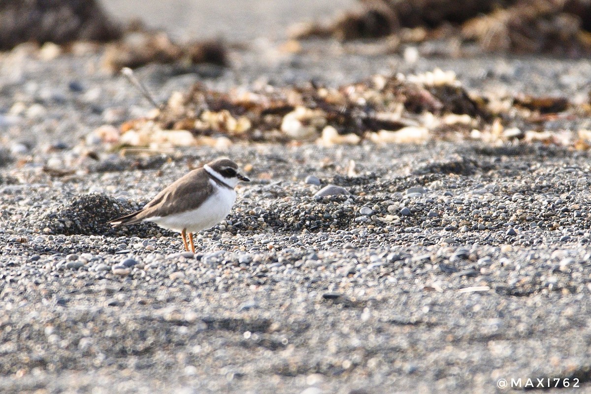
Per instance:
[[[174,42],[166,32],[148,30],[139,21],[126,27],[112,22],[95,0],[0,1],[0,50],[23,42],[66,45],[77,41],[107,43],[103,67],[116,73],[148,63],[175,63],[185,68],[209,63],[228,66],[228,50],[221,40]],[[59,47],[52,52],[61,53]],[[48,58],[52,58],[50,56]]]

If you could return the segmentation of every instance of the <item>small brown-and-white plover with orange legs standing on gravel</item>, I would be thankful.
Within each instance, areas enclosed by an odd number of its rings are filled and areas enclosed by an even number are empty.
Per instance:
[[[193,233],[221,222],[236,200],[234,187],[249,178],[238,172],[238,165],[220,158],[197,168],[158,193],[141,210],[112,220],[112,226],[154,222],[164,229],[181,233],[185,250],[195,252]]]

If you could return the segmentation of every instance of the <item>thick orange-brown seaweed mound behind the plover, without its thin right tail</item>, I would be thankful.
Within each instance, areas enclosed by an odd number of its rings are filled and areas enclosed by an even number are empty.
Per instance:
[[[161,135],[145,135],[148,127],[177,131],[183,141],[187,138],[184,133],[196,138],[223,135],[248,141],[321,138],[326,145],[356,144],[367,133],[378,133],[379,138],[391,141],[412,140],[418,135],[423,140],[428,135],[421,120],[426,114],[430,114],[427,118],[433,128],[438,126],[434,116],[458,124],[449,130],[469,132],[480,119],[491,118],[488,109],[479,104],[482,102],[485,100],[470,98],[453,73],[443,71],[414,79],[377,76],[339,89],[310,83],[267,87],[261,92],[217,92],[197,83],[189,92],[171,96],[154,118],[124,123],[122,139],[129,145],[149,144],[155,139],[170,142]],[[445,118],[447,115],[456,118]],[[388,134],[397,131],[401,133]]]

